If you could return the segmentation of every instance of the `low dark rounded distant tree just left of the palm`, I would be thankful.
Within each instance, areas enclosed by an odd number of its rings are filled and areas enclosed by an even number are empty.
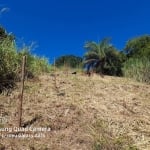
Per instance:
[[[71,68],[79,68],[82,64],[82,58],[74,55],[65,55],[56,59],[57,67],[68,66]]]

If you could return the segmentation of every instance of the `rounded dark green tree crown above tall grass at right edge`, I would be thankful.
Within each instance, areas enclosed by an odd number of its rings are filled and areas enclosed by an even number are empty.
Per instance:
[[[150,56],[150,36],[144,35],[129,40],[124,48],[128,57]]]

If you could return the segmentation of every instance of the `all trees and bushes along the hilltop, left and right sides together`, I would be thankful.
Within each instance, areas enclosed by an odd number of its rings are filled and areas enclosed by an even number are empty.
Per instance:
[[[118,50],[108,38],[96,43],[88,41],[84,45],[83,57],[65,55],[56,59],[58,68],[86,69],[104,75],[125,76],[137,81],[150,83],[150,36],[143,35],[130,39],[124,49]],[[31,53],[30,46],[17,47],[15,36],[0,27],[0,93],[13,87],[19,80],[22,56],[27,56],[26,76],[34,77],[50,72],[52,65],[44,57]]]

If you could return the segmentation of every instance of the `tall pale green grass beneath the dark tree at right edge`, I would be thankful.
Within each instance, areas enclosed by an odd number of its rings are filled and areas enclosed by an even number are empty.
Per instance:
[[[129,58],[122,70],[125,77],[150,84],[150,59],[148,57]]]

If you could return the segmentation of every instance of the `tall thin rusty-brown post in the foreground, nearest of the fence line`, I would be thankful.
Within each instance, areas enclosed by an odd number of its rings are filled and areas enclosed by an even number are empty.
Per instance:
[[[19,96],[19,108],[18,108],[18,126],[19,127],[21,127],[21,122],[22,122],[22,102],[23,102],[23,92],[24,92],[25,65],[26,65],[26,56],[23,56],[22,76],[21,76],[21,92],[20,92],[20,96]]]

